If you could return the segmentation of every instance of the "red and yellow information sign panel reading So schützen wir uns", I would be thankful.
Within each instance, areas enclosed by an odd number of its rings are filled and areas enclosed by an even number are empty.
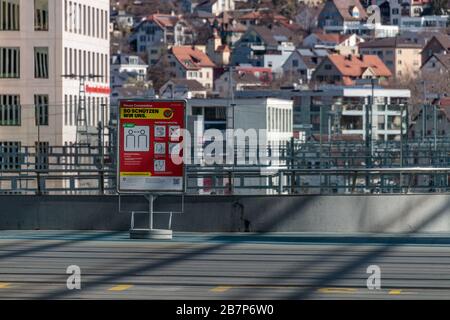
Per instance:
[[[184,191],[185,110],[185,101],[120,102],[119,192]]]

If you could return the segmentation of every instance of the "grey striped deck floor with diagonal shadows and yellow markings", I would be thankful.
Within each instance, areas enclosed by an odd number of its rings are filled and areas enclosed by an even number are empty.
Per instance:
[[[66,269],[81,268],[81,290]],[[381,269],[381,289],[366,286]],[[1,231],[0,299],[449,299],[450,236]]]

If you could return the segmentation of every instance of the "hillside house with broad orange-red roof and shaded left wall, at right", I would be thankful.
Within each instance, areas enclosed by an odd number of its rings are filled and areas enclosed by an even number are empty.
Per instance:
[[[331,54],[317,66],[312,80],[317,83],[354,85],[358,79],[377,79],[381,83],[391,76],[391,71],[376,55]]]

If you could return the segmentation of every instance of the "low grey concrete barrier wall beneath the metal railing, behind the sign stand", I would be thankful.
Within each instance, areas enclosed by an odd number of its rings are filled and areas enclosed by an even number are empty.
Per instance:
[[[145,198],[122,198],[124,210],[146,210]],[[178,211],[179,197],[155,209]],[[117,196],[0,196],[2,230],[128,230]],[[193,232],[450,232],[450,195],[186,197],[173,230]],[[137,215],[136,225],[148,222]],[[157,214],[155,227],[167,227]]]

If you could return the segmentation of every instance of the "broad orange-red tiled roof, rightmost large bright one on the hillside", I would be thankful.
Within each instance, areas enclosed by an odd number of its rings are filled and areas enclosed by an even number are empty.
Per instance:
[[[376,55],[340,55],[331,54],[328,59],[333,63],[339,72],[342,74],[345,82],[345,77],[361,77],[361,75],[370,68],[378,77],[390,77],[391,71]]]

